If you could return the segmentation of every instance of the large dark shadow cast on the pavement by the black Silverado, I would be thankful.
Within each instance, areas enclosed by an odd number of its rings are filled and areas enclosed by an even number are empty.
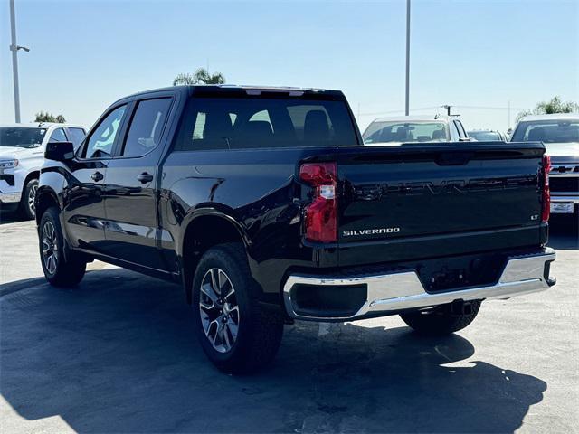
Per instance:
[[[230,376],[205,360],[177,286],[122,269],[74,290],[10,285],[0,392],[26,420],[79,432],[511,432],[546,391],[464,362],[460,335],[352,323],[287,326],[271,369]]]

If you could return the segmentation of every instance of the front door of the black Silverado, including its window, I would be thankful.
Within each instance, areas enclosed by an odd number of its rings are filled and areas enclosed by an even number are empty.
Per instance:
[[[121,105],[101,118],[70,163],[62,218],[73,247],[103,251],[105,177],[126,109],[127,105]]]

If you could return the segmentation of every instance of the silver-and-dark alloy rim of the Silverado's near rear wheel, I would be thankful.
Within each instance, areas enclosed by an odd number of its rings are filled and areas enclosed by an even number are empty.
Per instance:
[[[239,306],[232,281],[223,269],[209,269],[201,282],[199,312],[204,333],[219,353],[227,353],[237,340]]]

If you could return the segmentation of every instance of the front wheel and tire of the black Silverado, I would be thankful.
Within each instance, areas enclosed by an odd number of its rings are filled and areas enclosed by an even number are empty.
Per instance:
[[[48,208],[43,213],[38,234],[40,260],[46,280],[55,287],[76,286],[84,276],[87,263],[73,258],[71,254],[64,254],[64,237],[57,208]],[[54,255],[52,260],[50,254]]]

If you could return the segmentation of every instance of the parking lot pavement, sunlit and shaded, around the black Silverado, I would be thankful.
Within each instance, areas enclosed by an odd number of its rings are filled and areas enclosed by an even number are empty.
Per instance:
[[[553,232],[557,285],[456,335],[297,322],[237,377],[205,360],[181,288],[100,262],[52,288],[33,222],[4,218],[0,432],[579,432],[579,243]]]

